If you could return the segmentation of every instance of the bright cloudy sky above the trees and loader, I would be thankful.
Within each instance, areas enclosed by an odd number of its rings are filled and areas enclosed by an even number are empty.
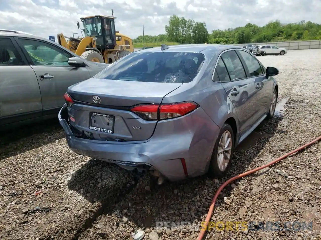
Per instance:
[[[0,28],[45,38],[81,35],[76,22],[91,15],[111,15],[116,30],[134,38],[164,33],[169,16],[205,21],[207,29],[234,28],[248,22],[263,26],[310,20],[321,24],[320,0],[0,0]]]

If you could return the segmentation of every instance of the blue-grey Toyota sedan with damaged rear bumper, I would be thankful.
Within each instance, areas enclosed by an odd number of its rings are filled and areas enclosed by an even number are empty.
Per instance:
[[[148,170],[159,184],[221,178],[235,147],[273,117],[278,73],[238,46],[162,45],[68,87],[58,118],[80,155]]]

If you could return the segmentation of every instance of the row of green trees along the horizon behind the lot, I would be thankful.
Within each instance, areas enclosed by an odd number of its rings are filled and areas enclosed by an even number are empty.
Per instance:
[[[243,27],[212,30],[208,33],[205,22],[195,22],[193,19],[179,18],[173,15],[165,26],[166,34],[145,36],[148,42],[211,43],[211,44],[246,44],[262,42],[279,42],[291,40],[321,39],[321,25],[311,21],[282,24],[280,21],[270,21],[263,27],[247,23]],[[143,36],[138,36],[134,43],[143,43]]]

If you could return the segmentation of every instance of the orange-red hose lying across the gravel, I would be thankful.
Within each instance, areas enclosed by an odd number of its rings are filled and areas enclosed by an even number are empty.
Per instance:
[[[239,175],[237,175],[237,176],[235,176],[235,177],[230,178],[230,179],[227,180],[226,182],[224,182],[224,183],[221,185],[221,187],[220,187],[219,189],[217,189],[217,191],[216,191],[216,193],[215,193],[215,195],[214,195],[214,197],[213,197],[212,203],[211,203],[211,205],[210,205],[210,209],[208,210],[208,213],[207,213],[205,222],[204,222],[204,224],[203,224],[203,226],[202,226],[201,232],[199,233],[199,235],[198,235],[198,237],[197,237],[197,240],[202,240],[202,239],[203,239],[204,233],[205,233],[205,231],[206,231],[206,229],[207,229],[208,222],[211,220],[211,217],[212,217],[212,214],[213,214],[213,210],[214,210],[214,205],[215,205],[216,199],[218,198],[218,196],[219,196],[220,192],[223,190],[223,188],[226,187],[226,185],[228,185],[228,184],[231,183],[232,181],[235,181],[235,180],[237,180],[237,179],[239,179],[239,178],[245,177],[245,176],[247,176],[247,175],[249,175],[249,174],[252,174],[252,173],[257,172],[257,171],[259,171],[259,170],[261,170],[261,169],[264,169],[264,168],[266,168],[266,167],[268,167],[268,166],[271,166],[271,165],[273,165],[273,164],[281,161],[282,159],[284,159],[284,158],[292,155],[293,153],[296,153],[296,152],[298,152],[298,151],[300,151],[300,150],[302,150],[302,149],[304,149],[304,148],[306,148],[306,147],[308,147],[308,146],[310,146],[310,145],[318,142],[319,140],[321,140],[321,136],[319,136],[319,137],[316,138],[315,140],[313,140],[313,141],[311,141],[311,142],[309,142],[309,143],[307,143],[307,144],[305,144],[305,145],[303,145],[303,146],[301,146],[301,147],[293,150],[292,152],[289,152],[289,153],[283,155],[282,157],[279,157],[279,158],[273,160],[272,162],[270,162],[270,163],[268,163],[268,164],[265,164],[265,165],[263,165],[263,166],[261,166],[261,167],[252,169],[252,170],[247,171],[247,172],[243,172],[243,173],[241,173],[241,174],[239,174]]]

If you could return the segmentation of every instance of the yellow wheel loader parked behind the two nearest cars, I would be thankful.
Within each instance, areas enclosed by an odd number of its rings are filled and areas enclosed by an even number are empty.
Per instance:
[[[81,18],[85,36],[66,37],[60,33],[58,43],[85,60],[113,63],[134,51],[132,39],[115,30],[115,19],[101,15]],[[78,28],[80,21],[77,22]]]

